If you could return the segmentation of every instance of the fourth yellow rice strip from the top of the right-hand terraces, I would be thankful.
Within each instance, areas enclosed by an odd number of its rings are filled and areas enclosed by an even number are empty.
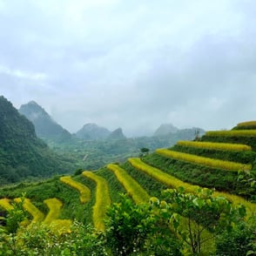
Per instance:
[[[252,165],[239,164],[231,161],[223,161],[212,158],[204,158],[192,154],[174,152],[166,149],[157,149],[156,153],[168,158],[174,158],[181,161],[192,162],[198,165],[206,165],[213,168],[224,169],[226,171],[238,172],[240,170],[250,171],[252,169]]]

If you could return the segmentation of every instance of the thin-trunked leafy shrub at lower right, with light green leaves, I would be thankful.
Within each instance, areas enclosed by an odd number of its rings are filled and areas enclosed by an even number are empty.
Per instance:
[[[164,194],[173,228],[192,253],[201,253],[206,241],[225,230],[232,231],[234,224],[246,215],[244,206],[234,207],[223,197],[213,197],[212,191],[207,189],[200,189],[195,195],[184,193],[181,187]]]

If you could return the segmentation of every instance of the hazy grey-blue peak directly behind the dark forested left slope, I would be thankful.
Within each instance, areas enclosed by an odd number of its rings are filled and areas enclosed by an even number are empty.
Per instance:
[[[66,131],[61,125],[58,125],[35,101],[21,105],[19,112],[35,125],[39,138],[53,140],[59,143],[71,139],[71,133]]]

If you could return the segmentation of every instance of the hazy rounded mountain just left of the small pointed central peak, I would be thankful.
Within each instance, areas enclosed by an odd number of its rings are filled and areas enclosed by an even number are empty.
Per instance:
[[[96,124],[86,124],[82,129],[77,131],[77,138],[85,140],[98,140],[107,138],[111,134],[108,129],[98,126]]]

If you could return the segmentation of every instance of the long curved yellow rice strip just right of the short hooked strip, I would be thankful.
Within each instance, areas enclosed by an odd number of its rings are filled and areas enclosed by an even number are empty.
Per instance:
[[[83,172],[82,175],[93,180],[96,184],[96,202],[93,206],[92,220],[98,231],[104,230],[104,218],[107,207],[111,205],[109,186],[106,180],[93,172]]]

